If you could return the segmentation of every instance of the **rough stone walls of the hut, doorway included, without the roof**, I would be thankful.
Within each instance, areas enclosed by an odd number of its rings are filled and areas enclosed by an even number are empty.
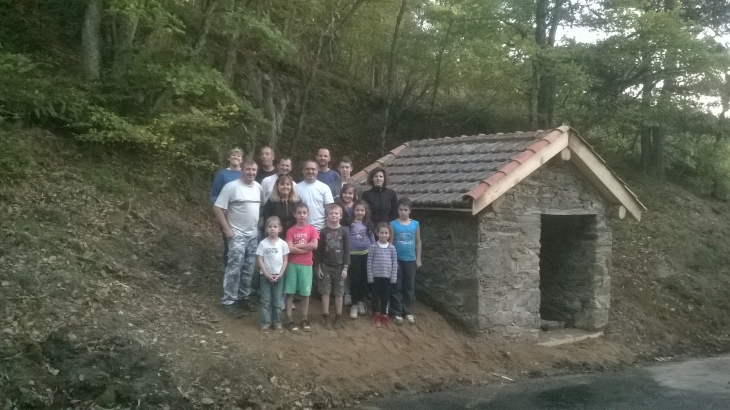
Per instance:
[[[560,157],[493,206],[414,210],[423,269],[417,297],[488,336],[537,339],[542,319],[597,329],[608,322],[607,203]]]

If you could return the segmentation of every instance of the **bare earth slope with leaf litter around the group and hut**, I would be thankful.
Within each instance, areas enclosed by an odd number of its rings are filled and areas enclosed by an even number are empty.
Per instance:
[[[0,187],[0,408],[346,407],[730,346],[729,208],[671,184],[629,181],[650,212],[614,228],[606,337],[488,340],[421,304],[415,326],[325,330],[316,300],[311,333],[261,334],[219,307],[207,182],[26,136],[39,169]]]

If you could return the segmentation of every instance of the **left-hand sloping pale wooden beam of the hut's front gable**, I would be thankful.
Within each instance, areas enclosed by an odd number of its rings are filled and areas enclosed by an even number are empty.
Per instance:
[[[558,130],[562,132],[562,134],[555,139],[555,141],[537,151],[525,162],[505,175],[504,178],[490,186],[479,198],[475,199],[472,202],[472,215],[479,213],[479,211],[486,208],[494,200],[520,183],[520,181],[527,178],[536,169],[540,168],[540,166],[549,161],[550,158],[559,154],[560,151],[568,147],[570,134],[567,132],[567,127],[561,127]]]

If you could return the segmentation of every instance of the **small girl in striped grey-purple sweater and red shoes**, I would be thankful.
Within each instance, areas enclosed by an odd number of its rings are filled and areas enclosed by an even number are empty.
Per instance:
[[[378,242],[370,245],[368,250],[368,283],[373,289],[373,325],[390,329],[388,319],[388,298],[390,287],[398,278],[398,256],[395,247],[389,242],[390,225],[387,222],[378,224],[375,231]]]

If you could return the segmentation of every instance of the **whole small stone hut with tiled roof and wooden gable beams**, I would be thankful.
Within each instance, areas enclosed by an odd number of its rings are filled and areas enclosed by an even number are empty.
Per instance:
[[[646,208],[573,129],[411,141],[355,180],[378,166],[422,224],[419,299],[488,336],[606,325],[611,223]]]

